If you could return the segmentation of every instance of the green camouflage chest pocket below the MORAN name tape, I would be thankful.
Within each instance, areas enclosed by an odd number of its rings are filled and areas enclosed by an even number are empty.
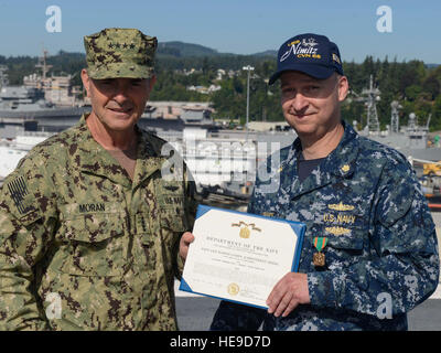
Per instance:
[[[76,276],[121,276],[129,268],[123,213],[87,213],[63,220],[61,270]]]

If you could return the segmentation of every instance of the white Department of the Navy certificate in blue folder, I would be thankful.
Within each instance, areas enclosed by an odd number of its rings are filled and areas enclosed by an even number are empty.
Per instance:
[[[200,205],[180,290],[258,308],[297,271],[305,225]]]

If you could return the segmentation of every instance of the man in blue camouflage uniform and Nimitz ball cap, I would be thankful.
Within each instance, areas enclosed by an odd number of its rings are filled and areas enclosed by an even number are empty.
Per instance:
[[[299,272],[275,286],[268,312],[220,302],[212,330],[262,321],[268,330],[406,330],[406,313],[439,280],[434,224],[415,172],[341,120],[348,83],[327,38],[283,43],[270,84],[278,78],[299,138],[280,151],[270,182],[257,180],[248,212],[306,224]]]

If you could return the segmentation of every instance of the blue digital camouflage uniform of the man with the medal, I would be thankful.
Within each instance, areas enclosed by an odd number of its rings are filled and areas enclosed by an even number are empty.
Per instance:
[[[434,224],[406,158],[344,124],[337,148],[302,183],[300,140],[281,150],[272,193],[257,180],[248,212],[304,222],[299,272],[311,304],[287,318],[226,301],[212,330],[406,330],[409,310],[439,280]],[[270,165],[270,163],[268,164]],[[277,235],[275,235],[277,236]],[[313,265],[315,236],[327,237],[325,266]]]

